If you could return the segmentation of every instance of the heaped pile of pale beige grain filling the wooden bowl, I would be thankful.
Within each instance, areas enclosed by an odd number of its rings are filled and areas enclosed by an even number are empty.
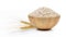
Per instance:
[[[40,8],[35,10],[34,12],[30,13],[29,15],[34,16],[34,17],[55,17],[59,14],[57,14],[56,12],[54,12],[53,10],[48,8]]]

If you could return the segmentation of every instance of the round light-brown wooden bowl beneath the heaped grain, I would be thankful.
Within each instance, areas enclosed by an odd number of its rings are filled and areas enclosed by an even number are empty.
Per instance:
[[[61,16],[55,17],[34,17],[29,15],[30,23],[34,25],[37,29],[50,30],[53,28]]]

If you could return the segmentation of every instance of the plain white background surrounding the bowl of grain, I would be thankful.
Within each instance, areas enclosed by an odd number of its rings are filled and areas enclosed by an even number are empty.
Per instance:
[[[48,32],[21,30],[20,21],[40,7],[47,7],[61,14],[57,25]],[[0,0],[0,37],[66,37],[65,0]]]

